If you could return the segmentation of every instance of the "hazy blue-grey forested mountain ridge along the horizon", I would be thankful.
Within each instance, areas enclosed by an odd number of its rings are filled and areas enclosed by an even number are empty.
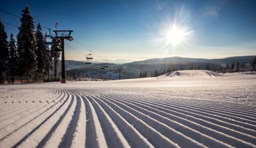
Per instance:
[[[109,68],[100,69],[101,64],[98,63],[92,63],[92,64],[86,64],[85,62],[80,61],[65,61],[66,66],[66,73],[67,75],[87,75],[90,76],[102,76],[105,77],[111,76],[112,79],[118,79],[119,73],[116,73],[115,71],[111,71],[110,69],[115,68],[123,68],[121,71],[121,78],[127,79],[127,78],[138,78],[139,74],[141,72],[147,72],[147,76],[150,77],[151,73],[154,74],[156,70],[159,72],[163,72],[163,70],[167,70],[170,68],[171,70],[181,70],[182,68],[184,70],[191,68],[192,64],[193,67],[200,66],[200,69],[205,70],[207,67],[207,64],[209,63],[211,70],[214,70],[215,68],[219,68],[222,66],[222,64],[229,64],[231,65],[232,62],[234,62],[235,66],[237,62],[240,62],[240,65],[247,64],[247,66],[250,66],[252,64],[252,61],[256,56],[243,56],[243,57],[229,57],[224,59],[195,59],[195,58],[181,58],[181,57],[171,57],[171,58],[162,58],[162,59],[148,59],[144,61],[136,61],[131,63],[125,63],[125,64],[112,64],[109,63]],[[60,61],[61,65],[61,61]]]

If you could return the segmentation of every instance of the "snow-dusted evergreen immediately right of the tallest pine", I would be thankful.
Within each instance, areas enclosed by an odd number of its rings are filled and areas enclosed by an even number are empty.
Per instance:
[[[37,79],[41,79],[44,75],[48,74],[49,69],[49,47],[48,45],[44,45],[43,42],[46,42],[46,39],[41,32],[42,28],[40,23],[37,26],[37,31],[35,32],[35,37],[37,39]],[[46,69],[46,64],[48,68]]]

